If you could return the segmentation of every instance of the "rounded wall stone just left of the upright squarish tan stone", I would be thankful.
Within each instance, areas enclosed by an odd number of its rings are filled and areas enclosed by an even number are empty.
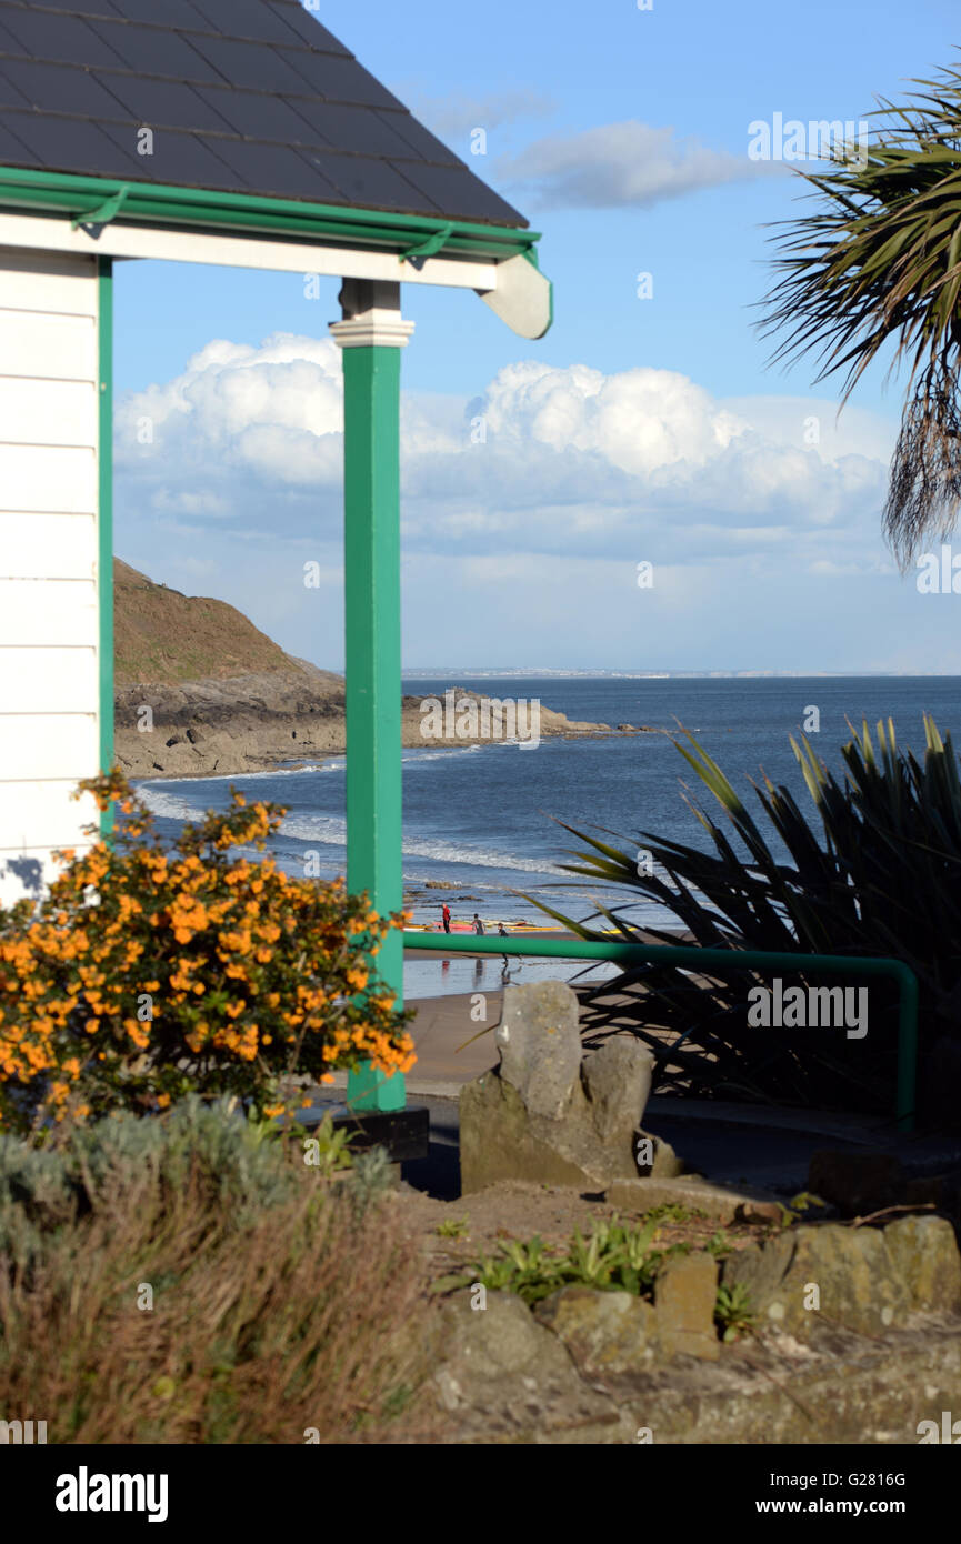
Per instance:
[[[635,1373],[657,1359],[655,1309],[632,1292],[564,1286],[538,1303],[535,1314],[584,1373]]]

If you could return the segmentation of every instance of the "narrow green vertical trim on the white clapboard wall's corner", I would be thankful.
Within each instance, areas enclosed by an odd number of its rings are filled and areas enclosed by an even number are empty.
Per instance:
[[[113,262],[97,258],[99,476],[97,615],[100,772],[113,767]],[[113,831],[113,806],[100,814],[100,835]]]

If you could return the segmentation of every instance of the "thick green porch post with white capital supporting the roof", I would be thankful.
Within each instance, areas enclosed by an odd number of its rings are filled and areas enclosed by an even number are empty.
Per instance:
[[[345,673],[348,736],[348,889],[375,911],[403,903],[400,851],[400,286],[345,279]],[[403,1004],[403,943],[396,931],[375,956],[377,974]],[[348,1075],[348,1104],[402,1110],[400,1073],[369,1062]]]

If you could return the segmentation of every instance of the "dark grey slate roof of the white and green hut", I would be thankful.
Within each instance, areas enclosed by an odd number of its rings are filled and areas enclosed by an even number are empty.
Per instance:
[[[2,165],[527,225],[298,0],[0,0]]]

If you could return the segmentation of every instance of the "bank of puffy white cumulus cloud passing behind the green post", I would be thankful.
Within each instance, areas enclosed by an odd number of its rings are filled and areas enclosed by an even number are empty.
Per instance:
[[[150,443],[136,432],[145,418]],[[813,418],[820,445],[805,443]],[[119,502],[178,540],[222,539],[229,522],[239,539],[337,545],[341,426],[331,341],[218,340],[119,405]],[[405,397],[405,543],[615,559],[644,548],[681,567],[788,550],[850,564],[878,545],[890,438],[870,414],[836,425],[817,398],[723,401],[675,371],[519,361],[468,403]]]

